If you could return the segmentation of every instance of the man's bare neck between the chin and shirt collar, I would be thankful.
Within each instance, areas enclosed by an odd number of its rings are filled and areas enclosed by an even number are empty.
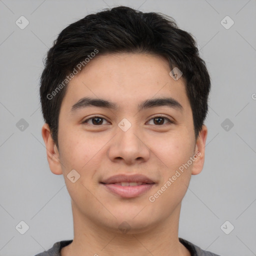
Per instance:
[[[72,202],[74,220],[73,241],[61,249],[61,256],[190,256],[178,240],[178,221],[181,203],[164,222],[126,233],[98,225],[86,219]]]

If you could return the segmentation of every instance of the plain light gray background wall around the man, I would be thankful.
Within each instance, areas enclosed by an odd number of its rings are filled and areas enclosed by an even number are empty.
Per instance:
[[[256,255],[255,0],[0,0],[0,255],[34,255],[73,238],[70,197],[41,137],[42,58],[66,25],[116,5],[172,16],[195,36],[211,76],[205,164],[184,197],[179,237],[222,256]],[[24,29],[15,24],[21,15]]]

